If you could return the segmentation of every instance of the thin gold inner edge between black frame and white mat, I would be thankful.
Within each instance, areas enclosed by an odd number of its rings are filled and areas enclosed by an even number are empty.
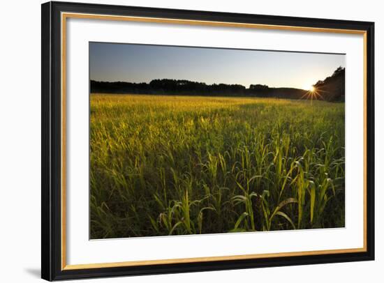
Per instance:
[[[363,60],[364,60],[364,188],[363,188],[363,247],[336,250],[317,250],[302,252],[276,252],[267,254],[241,254],[221,257],[193,257],[185,259],[153,259],[140,261],[121,261],[112,263],[84,263],[84,264],[66,264],[66,19],[91,19],[91,20],[114,20],[128,22],[152,22],[163,24],[186,24],[196,26],[221,26],[237,27],[249,29],[274,29],[280,31],[307,31],[322,33],[346,33],[358,34],[363,36]],[[230,261],[240,259],[266,259],[273,257],[297,257],[320,254],[344,254],[352,252],[367,252],[367,31],[353,29],[328,29],[316,28],[310,26],[279,26],[273,24],[248,24],[239,22],[214,22],[202,20],[181,20],[159,17],[131,17],[117,15],[98,15],[84,13],[61,13],[61,270],[78,270],[89,268],[112,268],[124,266],[149,266],[154,264],[171,263],[196,263],[207,261]]]

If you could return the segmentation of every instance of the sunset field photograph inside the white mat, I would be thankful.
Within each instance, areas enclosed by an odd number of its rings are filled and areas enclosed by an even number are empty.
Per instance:
[[[345,54],[90,42],[90,238],[344,227],[345,72]]]

